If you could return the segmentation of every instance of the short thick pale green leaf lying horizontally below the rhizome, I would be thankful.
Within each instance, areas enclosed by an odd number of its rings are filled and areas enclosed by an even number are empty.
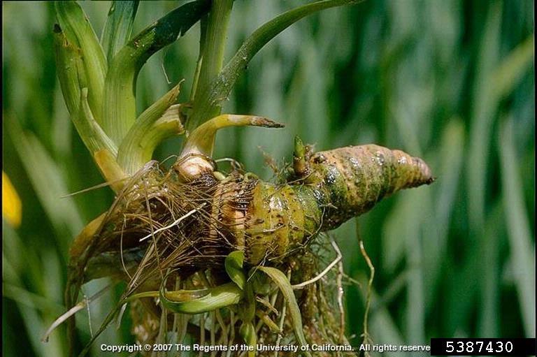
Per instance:
[[[200,294],[203,296],[196,298]],[[227,283],[201,291],[165,291],[163,284],[159,291],[159,297],[162,304],[173,312],[201,314],[237,304],[243,297],[243,291],[235,283]]]

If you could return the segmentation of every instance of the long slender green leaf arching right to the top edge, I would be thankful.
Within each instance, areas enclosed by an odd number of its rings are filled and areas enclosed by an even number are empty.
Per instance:
[[[192,117],[187,122],[187,130],[199,126],[199,124],[210,119],[210,113],[214,112],[215,107],[220,106],[220,103],[227,99],[229,92],[233,89],[239,75],[244,73],[248,62],[254,55],[263,48],[268,41],[271,41],[275,36],[280,34],[287,27],[291,26],[298,20],[307,15],[315,13],[327,8],[347,5],[350,3],[359,3],[361,0],[322,0],[308,3],[307,5],[294,8],[282,13],[273,20],[270,20],[259,27],[250,37],[248,37],[241,48],[238,49],[234,57],[226,64],[213,83],[200,92],[199,98],[196,96],[196,108]]]

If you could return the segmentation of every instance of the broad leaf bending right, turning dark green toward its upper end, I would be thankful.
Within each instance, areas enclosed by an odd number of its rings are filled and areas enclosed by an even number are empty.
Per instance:
[[[106,77],[103,102],[103,129],[115,143],[121,143],[136,119],[136,78],[145,61],[184,35],[208,10],[207,0],[185,3],[141,31],[117,52]]]

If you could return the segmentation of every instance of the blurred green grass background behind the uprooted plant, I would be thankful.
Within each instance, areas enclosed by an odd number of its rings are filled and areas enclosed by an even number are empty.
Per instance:
[[[182,1],[180,1],[182,2]],[[238,0],[228,57],[264,21],[306,1]],[[109,3],[82,3],[97,34]],[[142,2],[134,33],[178,3]],[[41,337],[63,312],[69,244],[113,201],[109,189],[61,198],[102,179],[69,121],[56,78],[52,3],[3,2],[3,170],[22,201],[22,224],[3,220],[3,352],[66,356],[65,330]],[[262,151],[289,161],[299,134],[317,150],[377,143],[422,156],[438,177],[401,192],[334,232],[345,272],[375,265],[375,343],[430,337],[535,337],[534,6],[524,1],[366,1],[301,20],[252,60],[226,112],[263,115],[286,128],[226,129],[215,158],[234,157],[271,177]],[[155,55],[138,79],[142,110],[186,79],[196,25]],[[262,150],[258,150],[261,147]],[[177,154],[167,140],[159,159]],[[106,282],[84,287],[90,296]],[[359,344],[364,286],[348,286],[347,321]],[[77,316],[87,341],[111,292]],[[88,323],[91,321],[91,324]],[[103,343],[131,342],[129,319]],[[99,342],[99,343],[100,343]],[[93,356],[100,356],[99,343]]]

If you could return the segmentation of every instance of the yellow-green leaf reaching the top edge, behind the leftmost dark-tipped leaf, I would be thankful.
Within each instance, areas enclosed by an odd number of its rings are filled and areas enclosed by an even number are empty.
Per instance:
[[[67,41],[80,50],[90,96],[88,101],[96,121],[101,124],[106,58],[92,25],[76,1],[56,1],[56,17]]]

